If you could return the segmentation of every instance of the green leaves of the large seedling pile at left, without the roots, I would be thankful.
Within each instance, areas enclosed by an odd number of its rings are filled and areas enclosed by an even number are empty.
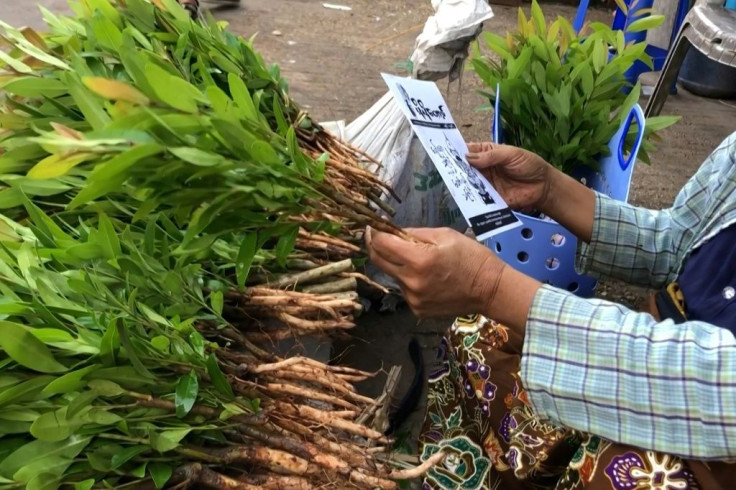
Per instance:
[[[0,486],[164,488],[259,410],[230,377],[230,328],[268,317],[248,286],[331,260],[301,227],[360,225],[318,202],[334,141],[250,42],[176,0],[72,9],[0,23]]]

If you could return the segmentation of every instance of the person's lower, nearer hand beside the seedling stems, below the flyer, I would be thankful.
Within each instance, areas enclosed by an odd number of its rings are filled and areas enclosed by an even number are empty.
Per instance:
[[[411,242],[369,228],[371,261],[394,276],[420,318],[487,315],[506,266],[487,247],[449,228],[405,230]]]

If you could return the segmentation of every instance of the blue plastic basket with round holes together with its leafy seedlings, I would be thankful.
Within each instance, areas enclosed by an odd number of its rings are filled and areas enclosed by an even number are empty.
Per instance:
[[[650,15],[632,32],[660,25]],[[506,37],[488,33],[491,57],[477,47],[473,67],[489,87],[494,141],[533,151],[586,185],[626,200],[636,159],[649,162],[651,139],[679,117],[645,121],[638,106],[641,87],[627,80],[635,62],[651,65],[643,42],[592,23],[577,32],[557,18],[547,24],[536,1],[531,18],[519,10],[518,29]],[[500,61],[498,60],[500,58]],[[501,94],[504,94],[501,97]],[[540,281],[591,296],[595,279],[575,271],[576,238],[539,214],[519,218],[524,226],[487,245],[515,268]]]

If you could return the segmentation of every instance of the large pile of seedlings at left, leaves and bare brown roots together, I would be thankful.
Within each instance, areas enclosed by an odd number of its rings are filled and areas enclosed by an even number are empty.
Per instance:
[[[394,488],[350,328],[390,192],[176,0],[0,24],[0,488]]]

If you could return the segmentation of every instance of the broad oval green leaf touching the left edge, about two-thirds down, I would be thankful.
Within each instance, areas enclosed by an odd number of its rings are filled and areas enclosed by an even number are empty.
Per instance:
[[[34,371],[61,373],[67,370],[23,325],[0,321],[0,347],[15,362]]]

